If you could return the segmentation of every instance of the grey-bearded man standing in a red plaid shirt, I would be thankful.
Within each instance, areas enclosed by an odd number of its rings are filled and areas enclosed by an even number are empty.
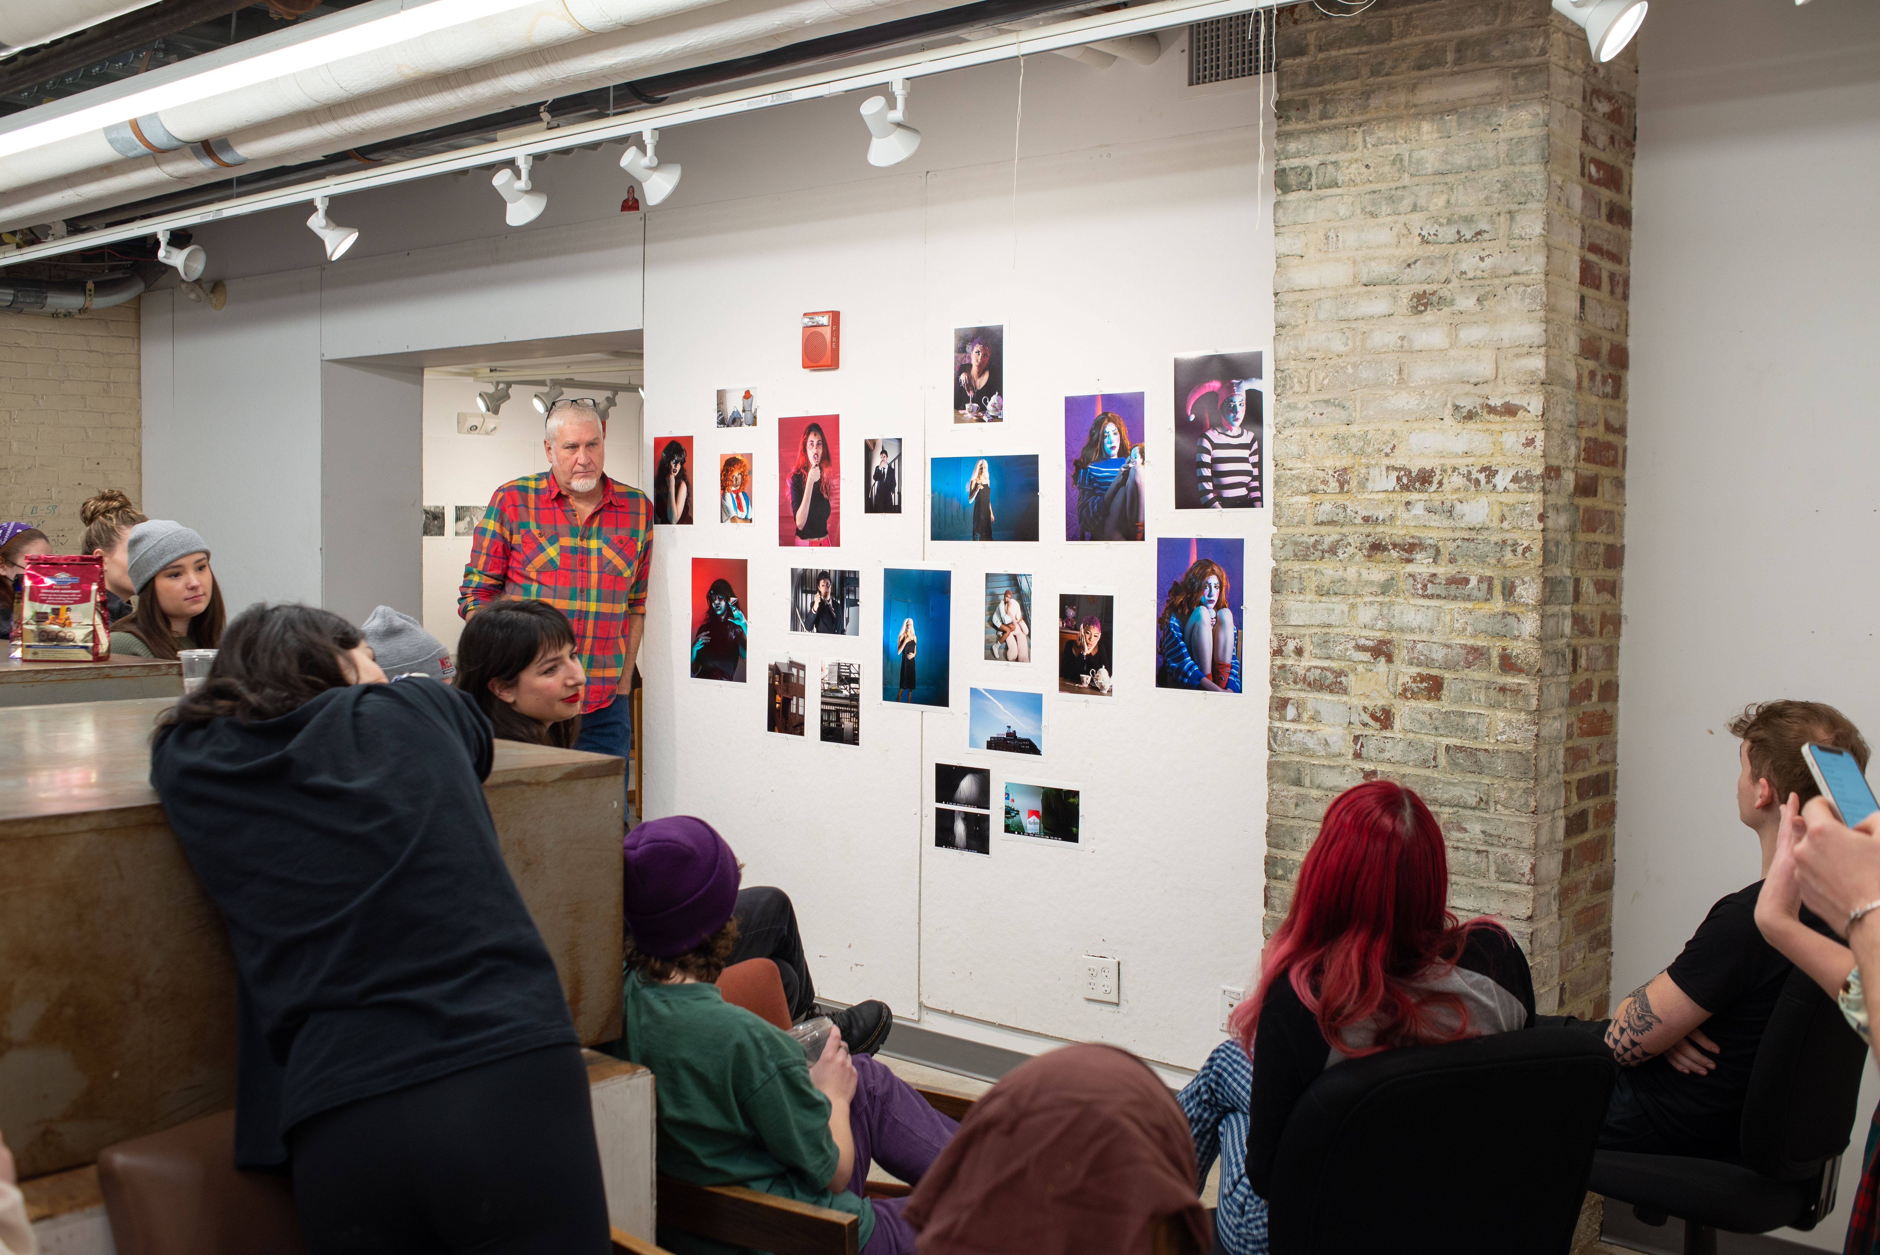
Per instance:
[[[470,618],[496,597],[536,597],[566,614],[587,669],[575,748],[624,759],[634,736],[626,695],[647,629],[652,502],[605,475],[607,426],[590,398],[549,406],[541,445],[549,470],[489,498],[457,612]]]

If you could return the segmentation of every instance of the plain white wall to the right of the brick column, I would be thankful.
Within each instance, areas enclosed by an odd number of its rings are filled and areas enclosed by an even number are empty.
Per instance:
[[[1747,703],[1880,738],[1880,8],[1664,0],[1639,36],[1615,998],[1758,875]],[[1869,1069],[1841,1212],[1859,1174]]]

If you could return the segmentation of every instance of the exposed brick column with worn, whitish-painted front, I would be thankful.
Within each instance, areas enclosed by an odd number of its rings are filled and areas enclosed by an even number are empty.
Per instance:
[[[1542,1011],[1611,960],[1636,62],[1545,0],[1278,23],[1267,924],[1416,787]]]

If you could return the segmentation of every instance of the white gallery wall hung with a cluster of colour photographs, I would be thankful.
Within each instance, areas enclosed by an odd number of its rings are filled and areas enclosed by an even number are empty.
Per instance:
[[[1173,51],[1181,34],[1164,38],[1171,51],[1149,68],[1026,58],[1015,188],[1021,70],[1006,64],[917,83],[912,120],[925,143],[887,171],[863,160],[859,98],[835,98],[666,132],[662,158],[684,163],[684,182],[645,214],[617,212],[624,184],[611,148],[538,165],[549,209],[523,231],[502,229],[487,175],[335,203],[335,216],[363,231],[337,265],[316,265],[301,210],[209,225],[197,239],[211,278],[229,282],[227,310],[216,318],[160,295],[147,318],[147,378],[162,380],[149,400],[147,492],[184,500],[197,492],[186,475],[194,460],[250,442],[269,475],[218,487],[227,498],[220,543],[241,579],[267,596],[318,596],[318,522],[305,535],[258,532],[252,543],[237,528],[276,502],[305,498],[305,509],[320,511],[318,438],[295,436],[318,404],[278,380],[318,389],[321,357],[641,325],[641,457],[652,438],[690,432],[711,483],[716,453],[754,449],[765,519],[776,500],[775,423],[788,413],[842,415],[852,485],[867,436],[902,436],[904,464],[919,479],[929,453],[1040,453],[1047,539],[1036,545],[929,547],[914,483],[899,519],[865,517],[852,487],[842,549],[825,556],[865,571],[863,635],[833,650],[807,648],[829,639],[786,631],[788,567],[803,556],[776,547],[775,526],[735,530],[701,509],[692,528],[660,528],[641,658],[647,812],[711,817],[752,881],[795,896],[831,998],[885,998],[901,1015],[987,1041],[1105,1037],[1194,1067],[1220,1041],[1218,986],[1245,981],[1260,943],[1269,530],[1263,513],[1173,515],[1169,359],[1269,346],[1273,254],[1256,96],[1188,94]],[[818,308],[844,316],[844,364],[833,374],[797,361],[797,316]],[[940,393],[949,331],[981,321],[1008,327],[1015,413],[1002,428],[955,430]],[[243,361],[231,368],[274,400],[259,419],[205,368],[237,346]],[[713,428],[713,391],[728,385],[758,385],[761,426]],[[1241,697],[1152,689],[1152,545],[1073,550],[1053,539],[1062,398],[1098,389],[1149,396],[1151,535],[1246,537]],[[427,468],[444,464],[436,442],[472,440],[455,436],[455,408],[431,406]],[[431,483],[423,498],[457,504]],[[746,686],[684,674],[694,554],[752,560]],[[876,697],[880,571],[923,560],[955,569],[953,712],[889,710]],[[1034,573],[1040,616],[1055,611],[1060,588],[1119,594],[1124,693],[1115,706],[1057,701],[1049,635],[1023,682],[978,661],[987,569]],[[446,626],[440,611],[449,612],[442,582],[427,571],[434,629]],[[803,742],[763,733],[761,663],[784,654],[863,663],[859,750],[814,740],[814,714]],[[1008,688],[1051,693],[1047,757],[1011,774],[1081,785],[1090,849],[995,842],[991,859],[968,862],[929,847],[931,763],[987,759],[966,750],[964,701],[970,684],[995,673]],[[991,765],[998,797],[1008,765]],[[1083,951],[1120,956],[1120,1007],[1081,999],[1073,968]]]

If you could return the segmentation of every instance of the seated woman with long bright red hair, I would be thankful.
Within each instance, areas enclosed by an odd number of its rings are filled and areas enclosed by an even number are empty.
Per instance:
[[[1261,956],[1260,988],[1230,1016],[1235,1041],[1181,1093],[1201,1174],[1216,1150],[1224,1157],[1216,1249],[1267,1249],[1280,1135],[1327,1067],[1534,1022],[1521,947],[1495,921],[1459,924],[1448,894],[1442,827],[1416,793],[1371,780],[1325,810],[1292,909]],[[1233,1170],[1243,1129],[1245,1174]]]

